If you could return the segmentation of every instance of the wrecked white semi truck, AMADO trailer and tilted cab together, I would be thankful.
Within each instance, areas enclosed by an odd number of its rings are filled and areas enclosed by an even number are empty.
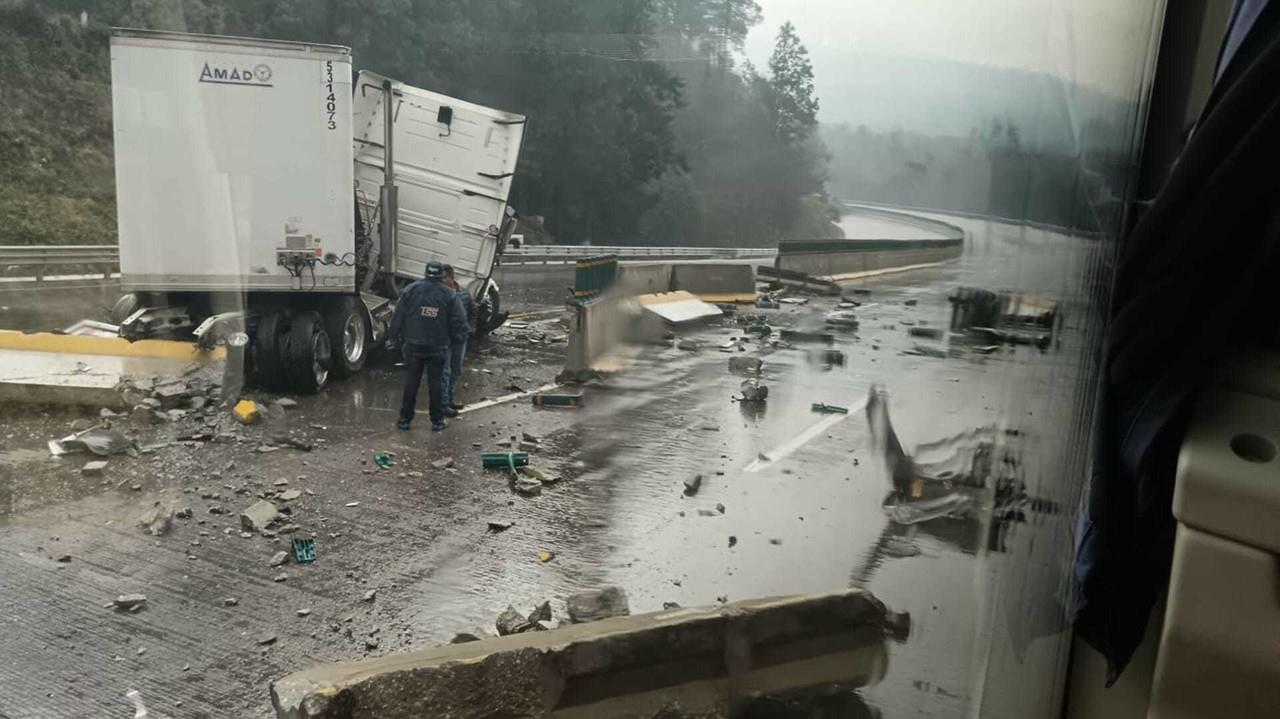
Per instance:
[[[353,78],[347,47],[136,29],[111,36],[111,104],[123,336],[247,336],[251,380],[314,391],[364,366],[431,260],[477,333],[506,319],[524,116]]]

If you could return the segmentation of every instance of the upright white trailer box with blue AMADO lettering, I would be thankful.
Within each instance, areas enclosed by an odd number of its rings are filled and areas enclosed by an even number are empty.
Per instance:
[[[125,289],[355,289],[347,47],[115,31],[111,105]]]

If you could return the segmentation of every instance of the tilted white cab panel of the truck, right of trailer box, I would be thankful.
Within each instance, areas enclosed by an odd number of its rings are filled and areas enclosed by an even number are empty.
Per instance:
[[[352,110],[356,191],[375,242],[375,211],[384,182],[385,79],[361,72]],[[417,279],[426,262],[438,260],[452,264],[463,284],[489,276],[525,118],[397,81],[392,88],[399,210],[396,252],[384,266]]]

